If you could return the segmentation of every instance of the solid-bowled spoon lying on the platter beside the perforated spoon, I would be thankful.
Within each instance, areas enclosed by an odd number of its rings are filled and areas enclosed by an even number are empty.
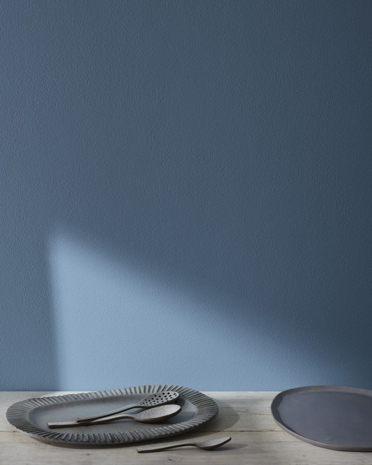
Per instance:
[[[106,416],[105,418],[99,418],[92,422],[55,422],[48,423],[49,428],[71,428],[74,426],[94,426],[102,425],[103,423],[115,422],[116,420],[134,420],[141,423],[153,423],[161,422],[176,415],[181,410],[180,405],[159,405],[158,407],[149,408],[143,410],[140,413],[118,413],[116,415]]]

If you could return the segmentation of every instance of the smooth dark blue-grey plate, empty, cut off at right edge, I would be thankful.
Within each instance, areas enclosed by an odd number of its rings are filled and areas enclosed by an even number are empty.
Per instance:
[[[372,391],[306,386],[278,394],[276,423],[302,441],[335,450],[372,451]]]

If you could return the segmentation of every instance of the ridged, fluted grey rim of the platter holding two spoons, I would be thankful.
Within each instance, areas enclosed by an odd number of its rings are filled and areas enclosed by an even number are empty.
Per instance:
[[[115,433],[59,433],[55,430],[43,430],[29,420],[29,413],[38,407],[55,403],[64,403],[74,400],[90,400],[113,396],[126,396],[135,394],[152,394],[160,391],[176,391],[180,397],[188,400],[197,408],[197,414],[188,421],[164,425],[142,430],[130,430]],[[34,397],[21,400],[8,407],[6,417],[8,422],[17,430],[35,439],[48,442],[72,444],[124,444],[130,442],[146,441],[175,434],[180,434],[198,428],[211,420],[218,413],[218,406],[211,398],[195,389],[178,385],[148,384],[132,386],[129,388],[110,389],[104,391],[80,392],[77,394],[64,394],[59,396]]]

